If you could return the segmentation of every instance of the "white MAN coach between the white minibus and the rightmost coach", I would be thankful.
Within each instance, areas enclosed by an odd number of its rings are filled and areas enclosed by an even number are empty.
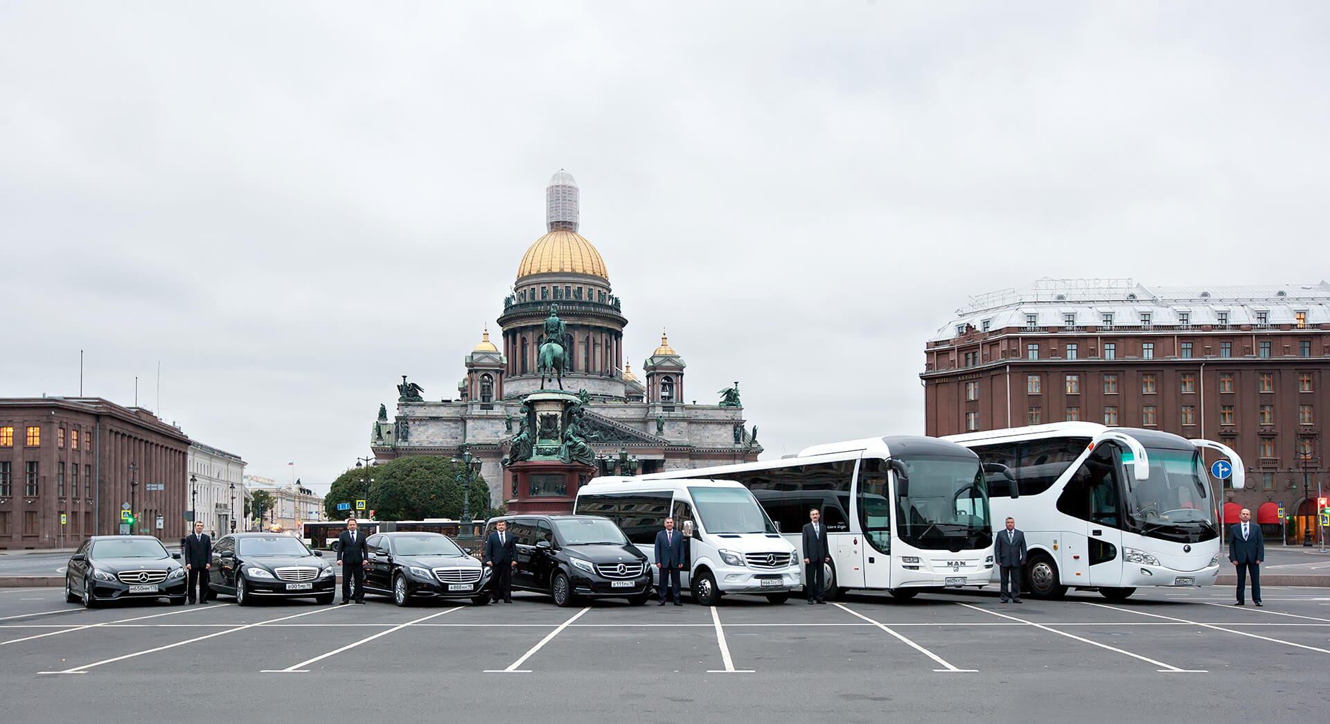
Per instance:
[[[992,470],[1001,472],[1000,466]],[[829,598],[868,588],[908,599],[920,588],[980,587],[992,575],[984,474],[975,454],[955,443],[890,435],[817,445],[779,460],[650,476],[743,484],[799,551],[799,563],[803,524],[817,507],[831,551]]]

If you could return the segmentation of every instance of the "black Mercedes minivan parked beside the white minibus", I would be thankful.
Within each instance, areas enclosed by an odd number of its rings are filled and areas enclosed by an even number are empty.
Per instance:
[[[650,598],[646,556],[609,518],[507,515],[488,522],[485,539],[500,520],[517,543],[515,590],[549,594],[559,606],[572,606],[579,598],[625,598],[641,606]]]

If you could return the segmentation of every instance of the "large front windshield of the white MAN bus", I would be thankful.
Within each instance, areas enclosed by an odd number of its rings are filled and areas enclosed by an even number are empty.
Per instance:
[[[900,538],[918,548],[982,548],[992,543],[988,488],[979,460],[900,458],[908,475],[898,495]]]

